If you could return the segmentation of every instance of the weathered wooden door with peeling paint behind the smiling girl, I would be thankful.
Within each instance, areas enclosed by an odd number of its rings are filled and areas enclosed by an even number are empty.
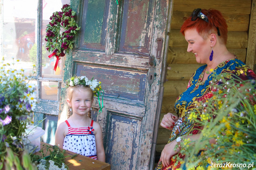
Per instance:
[[[92,116],[103,129],[111,169],[153,166],[169,4],[168,0],[118,0],[118,5],[116,0],[71,0],[81,31],[74,50],[66,55],[63,81],[86,75],[102,82],[104,109],[96,117],[99,104],[95,98]],[[66,116],[64,102],[59,122]]]

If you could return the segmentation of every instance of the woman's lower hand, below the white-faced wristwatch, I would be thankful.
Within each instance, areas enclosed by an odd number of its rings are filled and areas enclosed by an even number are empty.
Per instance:
[[[161,157],[160,157],[160,161],[162,161],[163,167],[168,166],[170,164],[171,156],[175,155],[176,153],[179,153],[180,151],[179,147],[177,147],[177,149],[174,150],[176,145],[177,145],[177,142],[176,140],[174,140],[164,146],[163,151],[161,153]]]

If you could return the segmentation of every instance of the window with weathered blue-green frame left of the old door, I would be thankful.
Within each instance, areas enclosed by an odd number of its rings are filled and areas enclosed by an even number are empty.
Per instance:
[[[4,0],[0,9],[0,55],[5,62],[19,60],[17,69],[24,69],[26,75],[36,65],[33,83],[37,85],[39,103],[34,122],[47,118],[39,126],[47,133],[43,141],[50,144],[55,141],[64,60],[61,57],[54,71],[56,57],[48,57],[51,53],[46,50],[44,39],[50,16],[61,11],[64,4],[70,4],[70,0]]]

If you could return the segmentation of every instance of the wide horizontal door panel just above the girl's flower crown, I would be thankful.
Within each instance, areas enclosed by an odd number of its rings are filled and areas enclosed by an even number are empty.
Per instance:
[[[77,76],[94,75],[94,79],[100,80],[104,85],[104,96],[144,100],[146,73],[116,70],[114,67],[93,67],[88,64],[77,64],[76,68]]]

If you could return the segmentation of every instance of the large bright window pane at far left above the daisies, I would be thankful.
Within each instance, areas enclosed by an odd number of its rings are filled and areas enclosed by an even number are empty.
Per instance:
[[[36,0],[4,0],[2,6],[4,59],[8,63],[12,63],[12,58],[19,59],[26,75],[36,64],[37,3]]]

